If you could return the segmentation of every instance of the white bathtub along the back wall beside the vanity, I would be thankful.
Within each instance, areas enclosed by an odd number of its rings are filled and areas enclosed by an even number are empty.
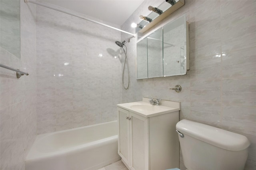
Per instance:
[[[96,170],[120,160],[117,121],[38,135],[25,170]]]

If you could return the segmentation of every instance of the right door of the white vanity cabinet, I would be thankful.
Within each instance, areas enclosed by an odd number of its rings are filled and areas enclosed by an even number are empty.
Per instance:
[[[130,112],[131,166],[134,170],[149,170],[148,118]]]

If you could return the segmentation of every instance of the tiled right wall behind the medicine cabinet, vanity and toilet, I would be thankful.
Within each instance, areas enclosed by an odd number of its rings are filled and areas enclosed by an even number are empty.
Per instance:
[[[121,26],[134,31],[140,14],[157,0],[144,1]],[[190,33],[190,70],[185,76],[136,80],[136,39],[128,44],[130,88],[123,102],[142,97],[181,103],[180,119],[190,119],[245,135],[251,145],[245,170],[256,167],[256,1],[186,0],[185,6],[151,30],[186,14]],[[127,35],[121,34],[122,39]],[[176,84],[182,91],[168,87]],[[181,155],[181,153],[180,153]],[[180,169],[185,170],[182,155]]]

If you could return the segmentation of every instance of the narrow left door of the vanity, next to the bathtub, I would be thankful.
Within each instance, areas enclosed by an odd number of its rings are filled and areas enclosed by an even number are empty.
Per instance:
[[[118,107],[118,154],[127,165],[130,165],[130,133],[127,117],[129,111]]]

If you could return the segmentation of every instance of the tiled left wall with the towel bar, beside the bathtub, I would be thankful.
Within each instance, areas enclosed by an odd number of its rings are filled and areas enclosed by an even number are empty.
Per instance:
[[[20,59],[0,49],[0,63],[28,72],[0,68],[0,169],[24,170],[36,137],[36,7],[20,1]]]

